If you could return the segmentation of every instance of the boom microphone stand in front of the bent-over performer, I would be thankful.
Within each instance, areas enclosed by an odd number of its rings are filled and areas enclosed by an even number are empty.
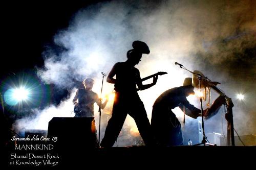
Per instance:
[[[197,74],[196,72],[192,72],[192,71],[186,69],[183,65],[180,65],[180,64],[178,64],[178,65],[180,66],[180,68],[183,68],[183,69],[187,70],[187,71],[190,72],[191,74],[198,75],[199,90],[201,91],[201,80],[202,80],[202,78],[203,78],[203,79],[206,79],[206,80],[209,80],[209,79],[206,78],[206,77],[202,77],[202,75]],[[207,138],[205,137],[205,133],[204,133],[204,116],[203,116],[203,102],[202,102],[202,96],[200,96],[199,99],[200,99],[200,103],[201,103],[201,116],[202,116],[203,139],[202,139],[201,143],[194,144],[194,145],[201,145],[201,144],[206,145],[206,144],[207,144],[207,145],[215,146],[216,144],[206,143],[206,139],[207,139]]]

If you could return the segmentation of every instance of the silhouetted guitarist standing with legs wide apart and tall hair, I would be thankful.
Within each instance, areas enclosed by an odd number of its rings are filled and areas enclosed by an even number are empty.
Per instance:
[[[142,101],[137,93],[136,85],[140,90],[154,86],[157,76],[153,78],[153,83],[143,85],[140,78],[140,71],[134,66],[141,60],[142,54],[149,54],[150,50],[146,43],[142,41],[133,42],[133,50],[127,52],[125,62],[116,63],[107,78],[107,82],[115,84],[115,100],[112,117],[108,122],[105,135],[101,141],[101,147],[112,147],[117,139],[127,114],[131,115],[138,127],[140,135],[146,145],[155,144],[150,122]],[[113,77],[116,76],[116,79]]]

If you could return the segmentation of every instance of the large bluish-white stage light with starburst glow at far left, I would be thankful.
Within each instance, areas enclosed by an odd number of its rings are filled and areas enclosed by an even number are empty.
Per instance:
[[[9,111],[17,113],[44,105],[50,100],[50,88],[40,82],[34,72],[18,72],[3,80],[4,101]]]

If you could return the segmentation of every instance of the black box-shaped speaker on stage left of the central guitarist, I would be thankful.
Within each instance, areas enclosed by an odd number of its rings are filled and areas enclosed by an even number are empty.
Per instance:
[[[97,136],[94,117],[53,117],[48,124],[49,138],[57,137],[60,148],[95,148]]]

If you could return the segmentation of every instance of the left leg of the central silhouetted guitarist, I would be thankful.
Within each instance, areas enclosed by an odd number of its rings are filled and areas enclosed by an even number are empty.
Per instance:
[[[100,143],[101,147],[108,148],[113,146],[122,129],[126,115],[127,112],[124,108],[113,106],[112,117],[106,126],[105,135]]]

